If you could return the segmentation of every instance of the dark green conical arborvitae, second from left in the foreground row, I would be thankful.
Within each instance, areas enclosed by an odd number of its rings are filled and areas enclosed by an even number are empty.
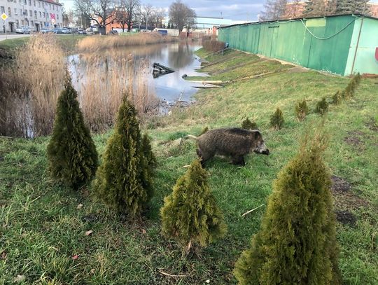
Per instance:
[[[94,180],[97,197],[120,214],[140,216],[151,197],[151,177],[146,169],[148,160],[143,155],[137,111],[123,99]]]

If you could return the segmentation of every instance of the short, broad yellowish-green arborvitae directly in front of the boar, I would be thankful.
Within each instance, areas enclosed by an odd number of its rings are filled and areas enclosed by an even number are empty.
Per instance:
[[[163,235],[186,246],[187,251],[193,244],[206,246],[226,232],[223,214],[216,206],[200,160],[190,165],[177,181],[172,195],[165,197],[160,215]]]

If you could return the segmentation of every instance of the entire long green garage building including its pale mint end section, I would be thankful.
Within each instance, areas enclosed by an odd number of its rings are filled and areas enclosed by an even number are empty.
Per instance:
[[[334,15],[221,27],[230,48],[332,74],[378,74],[378,18]]]

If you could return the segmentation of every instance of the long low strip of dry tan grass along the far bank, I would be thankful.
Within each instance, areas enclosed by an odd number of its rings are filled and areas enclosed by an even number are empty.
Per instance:
[[[128,36],[87,36],[78,42],[80,51],[98,51],[125,46],[144,46],[151,43],[168,43],[175,41],[172,36],[162,36],[157,33],[139,33]]]

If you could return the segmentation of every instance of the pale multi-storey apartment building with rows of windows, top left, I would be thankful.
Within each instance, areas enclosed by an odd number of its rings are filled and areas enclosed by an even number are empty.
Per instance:
[[[29,27],[38,32],[43,27],[63,27],[62,4],[54,0],[0,0],[1,32],[15,32],[16,27]]]

